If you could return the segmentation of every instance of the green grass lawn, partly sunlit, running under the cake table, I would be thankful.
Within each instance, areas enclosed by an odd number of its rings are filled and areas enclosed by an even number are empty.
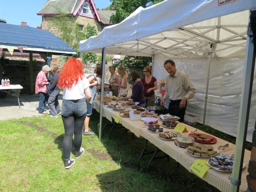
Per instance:
[[[99,114],[96,113],[89,126],[97,135],[98,122]],[[219,131],[211,132],[209,126],[196,127],[229,139]],[[105,129],[102,142],[97,135],[83,136],[85,153],[75,159],[76,163],[70,169],[65,169],[64,128],[60,116],[1,121],[0,191],[219,191],[183,166],[177,168],[172,158],[169,162],[167,158],[154,160],[150,172],[144,173],[143,168],[151,158],[144,156],[142,169],[138,171],[137,160],[144,139],[120,128],[113,130],[109,140],[109,130],[110,127]],[[147,149],[154,151],[155,147],[149,144]],[[74,147],[71,156],[74,157]]]

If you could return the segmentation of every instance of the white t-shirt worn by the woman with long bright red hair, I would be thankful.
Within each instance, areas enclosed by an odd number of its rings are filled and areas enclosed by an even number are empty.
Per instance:
[[[71,88],[63,88],[63,99],[78,100],[85,98],[84,90],[90,86],[86,77],[79,79],[77,84],[73,84]]]

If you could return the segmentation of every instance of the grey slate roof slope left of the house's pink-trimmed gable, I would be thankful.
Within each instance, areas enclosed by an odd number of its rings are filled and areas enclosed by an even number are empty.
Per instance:
[[[78,1],[81,2],[81,0]],[[76,0],[47,0],[37,14],[54,14],[59,13],[59,10],[63,13],[71,13],[75,3]]]

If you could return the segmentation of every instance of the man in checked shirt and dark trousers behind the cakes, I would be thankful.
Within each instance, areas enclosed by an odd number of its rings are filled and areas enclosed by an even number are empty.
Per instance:
[[[173,60],[169,59],[164,62],[164,68],[169,73],[166,77],[165,94],[160,102],[164,107],[166,99],[170,99],[171,102],[168,107],[170,115],[175,115],[180,118],[180,122],[183,122],[187,100],[194,97],[196,89],[192,85],[188,75],[176,69]]]

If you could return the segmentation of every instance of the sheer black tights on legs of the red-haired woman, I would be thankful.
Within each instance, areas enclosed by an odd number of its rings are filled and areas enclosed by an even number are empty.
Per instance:
[[[86,118],[86,113],[82,116],[63,116],[62,121],[65,130],[65,136],[63,139],[63,152],[65,159],[70,158],[71,148],[72,148],[72,138],[74,134],[74,146],[75,151],[79,151],[82,144],[82,129],[83,123]]]

